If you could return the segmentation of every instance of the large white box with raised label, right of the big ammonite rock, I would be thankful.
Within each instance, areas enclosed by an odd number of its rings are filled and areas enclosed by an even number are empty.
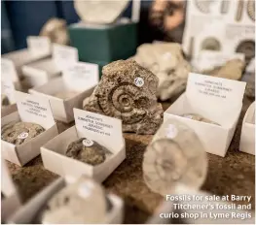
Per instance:
[[[164,113],[164,120],[175,118],[192,128],[206,152],[224,157],[233,139],[245,82],[190,73],[186,92]],[[220,125],[183,117],[196,113]]]

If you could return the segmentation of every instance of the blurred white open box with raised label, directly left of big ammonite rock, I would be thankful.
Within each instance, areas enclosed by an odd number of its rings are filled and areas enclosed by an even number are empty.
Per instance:
[[[51,104],[56,120],[69,123],[74,120],[73,109],[82,109],[85,98],[90,97],[98,83],[98,66],[91,63],[77,62],[63,71],[61,78],[29,89],[33,95],[46,96]],[[54,95],[61,91],[75,91],[76,95],[67,99]]]

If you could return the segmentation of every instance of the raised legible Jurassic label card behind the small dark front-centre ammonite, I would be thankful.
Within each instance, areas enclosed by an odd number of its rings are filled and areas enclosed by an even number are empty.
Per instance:
[[[78,109],[74,109],[74,116],[79,137],[86,137],[111,149],[124,144],[120,119]]]

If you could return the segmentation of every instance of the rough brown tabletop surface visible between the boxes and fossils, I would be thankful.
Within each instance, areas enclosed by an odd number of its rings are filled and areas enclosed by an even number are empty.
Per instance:
[[[243,99],[243,108],[226,157],[213,154],[208,156],[208,174],[202,190],[215,195],[252,196],[252,209],[255,209],[255,156],[238,150],[241,121],[251,101]],[[162,104],[166,110],[170,103]],[[62,132],[72,124],[58,122],[58,130]],[[102,183],[107,191],[111,191],[125,202],[124,223],[144,223],[162,203],[163,197],[149,190],[142,177],[142,160],[146,146],[153,135],[124,134],[126,139],[127,158]],[[18,185],[23,203],[44,189],[58,176],[44,169],[41,157],[33,159],[25,167],[8,163],[11,174]],[[248,204],[241,201],[240,204]]]

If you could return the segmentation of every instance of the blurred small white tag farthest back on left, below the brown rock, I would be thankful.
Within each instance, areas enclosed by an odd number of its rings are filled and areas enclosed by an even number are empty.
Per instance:
[[[27,37],[27,48],[32,54],[49,55],[52,51],[51,40],[48,37]]]

